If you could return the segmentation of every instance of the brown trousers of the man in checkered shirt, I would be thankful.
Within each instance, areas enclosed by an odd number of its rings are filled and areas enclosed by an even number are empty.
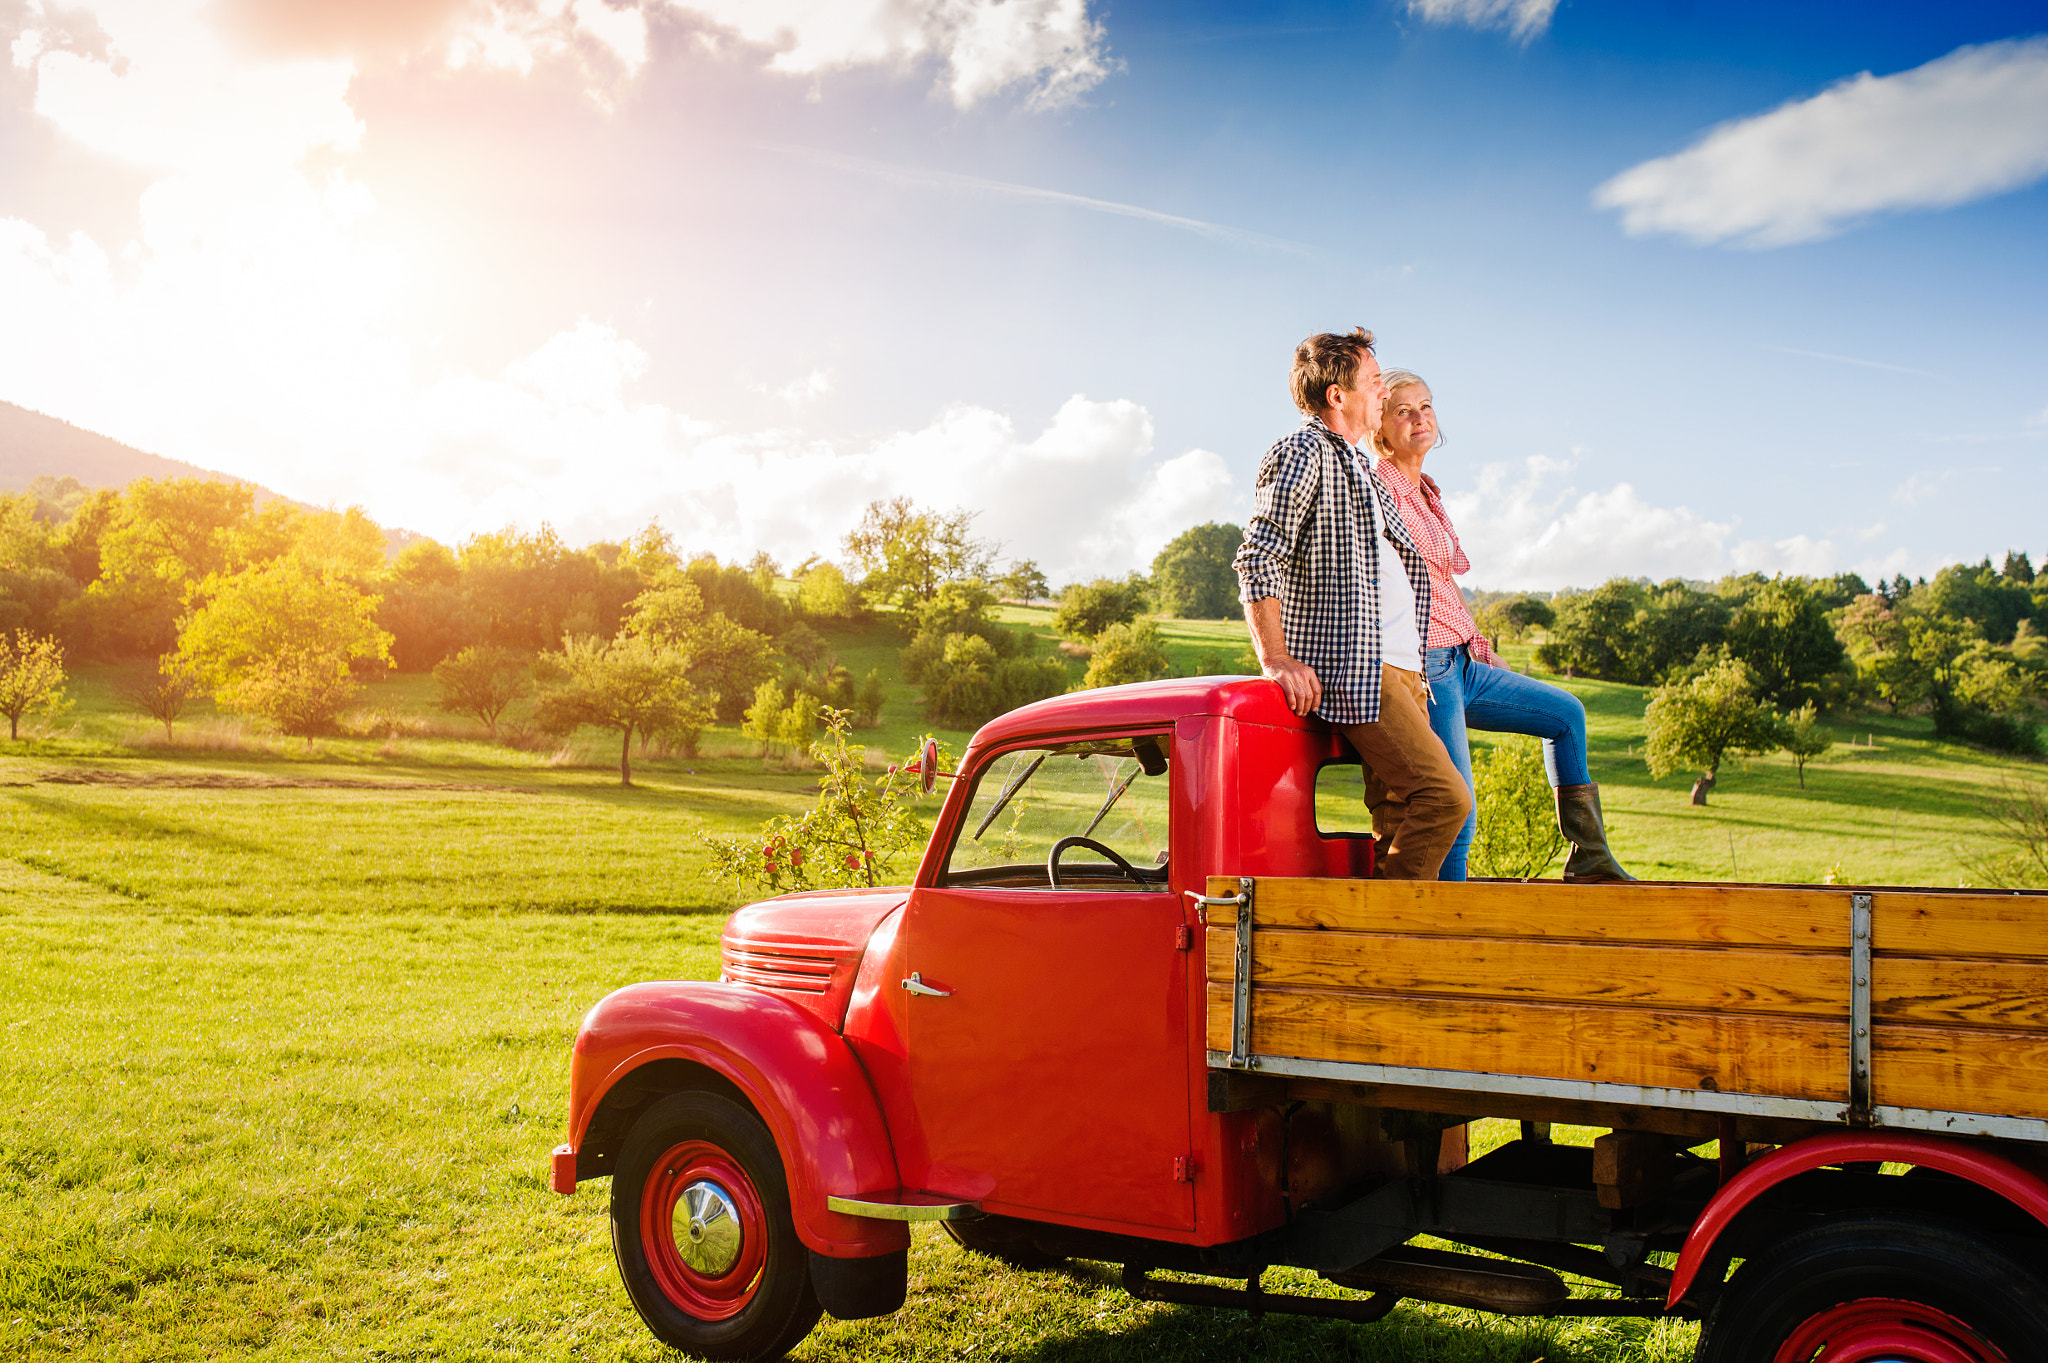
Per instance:
[[[1380,667],[1380,718],[1343,737],[1366,763],[1366,804],[1384,855],[1380,880],[1436,880],[1458,841],[1473,792],[1430,729],[1430,684],[1419,671]]]

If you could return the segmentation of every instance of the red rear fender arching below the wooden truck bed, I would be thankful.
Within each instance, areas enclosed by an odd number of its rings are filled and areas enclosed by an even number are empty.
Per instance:
[[[2042,1226],[2048,1226],[2048,1179],[2030,1164],[2021,1164],[2009,1154],[1989,1146],[1976,1146],[1944,1136],[1921,1136],[1915,1132],[1833,1132],[1780,1146],[1747,1164],[1739,1175],[1714,1193],[1706,1212],[1686,1234],[1686,1248],[1679,1250],[1677,1269],[1671,1273],[1671,1295],[1665,1310],[1679,1304],[1694,1275],[1706,1263],[1708,1252],[1720,1232],[1751,1201],[1778,1187],[1794,1175],[1823,1164],[1851,1160],[1878,1160],[1886,1164],[1919,1164],[1939,1169],[1985,1187],[2013,1203]]]

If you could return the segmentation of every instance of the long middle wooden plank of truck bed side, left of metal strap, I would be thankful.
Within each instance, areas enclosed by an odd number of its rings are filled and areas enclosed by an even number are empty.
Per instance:
[[[1208,978],[1231,978],[1237,968],[1235,931],[1210,927],[1204,935]],[[1253,937],[1251,984],[1792,1017],[1849,1015],[1847,956],[1767,948],[1397,937],[1276,927]]]

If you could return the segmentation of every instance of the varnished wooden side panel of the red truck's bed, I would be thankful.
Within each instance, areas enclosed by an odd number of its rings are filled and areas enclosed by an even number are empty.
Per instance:
[[[1225,876],[1208,894],[1229,900],[1206,911],[1208,1062],[1247,1089],[2048,1142],[2048,894]]]

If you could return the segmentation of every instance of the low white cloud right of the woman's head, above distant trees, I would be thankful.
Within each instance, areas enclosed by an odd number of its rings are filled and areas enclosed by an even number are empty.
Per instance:
[[[1610,577],[1837,571],[1831,540],[1735,540],[1735,522],[1651,505],[1628,483],[1579,491],[1563,481],[1569,473],[1569,460],[1538,454],[1522,469],[1487,465],[1473,491],[1446,495],[1470,585],[1548,591]]]

